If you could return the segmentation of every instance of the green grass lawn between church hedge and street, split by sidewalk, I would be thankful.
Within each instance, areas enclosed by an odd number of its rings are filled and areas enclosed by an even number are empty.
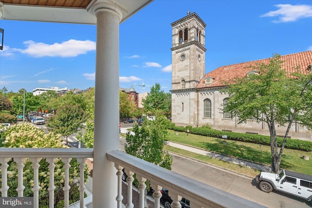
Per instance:
[[[168,132],[169,132],[169,135],[167,139],[169,141],[175,141],[175,142],[179,142],[182,144],[191,145],[194,147],[199,147],[205,150],[219,152],[219,153],[223,153],[227,155],[232,155],[238,158],[243,158],[243,159],[251,160],[254,162],[258,162],[258,163],[271,165],[271,149],[269,146],[263,146],[263,145],[260,146],[257,144],[245,143],[245,142],[239,142],[239,141],[231,141],[231,140],[226,140],[227,144],[223,145],[224,139],[199,136],[199,135],[194,135],[190,133],[187,135],[187,133],[185,132],[178,132],[178,135],[176,135],[176,132],[171,131],[171,130],[168,130]],[[179,149],[172,148],[172,147],[166,147],[165,149],[168,151],[183,152],[181,154],[184,154],[184,155],[187,155],[187,154],[193,155],[192,152],[181,151]],[[303,155],[309,155],[310,160],[304,160],[302,158]],[[208,157],[204,155],[202,156],[195,155],[195,156],[196,156],[195,157],[196,159]],[[203,159],[200,159],[200,160],[203,160]],[[209,162],[205,159],[204,161],[213,163],[213,164],[219,163],[218,161],[214,161],[214,160]],[[215,164],[215,165],[218,165],[218,164]],[[228,168],[229,164],[226,164],[225,166],[226,166],[225,168]],[[284,149],[280,168],[312,175],[312,152]],[[240,166],[237,166],[235,168],[236,171],[238,171],[239,169],[242,169],[242,168]],[[243,173],[250,175],[250,173],[246,173],[244,171]],[[239,171],[239,172],[242,172],[242,171]],[[255,175],[253,172],[251,174],[253,174],[252,176]]]

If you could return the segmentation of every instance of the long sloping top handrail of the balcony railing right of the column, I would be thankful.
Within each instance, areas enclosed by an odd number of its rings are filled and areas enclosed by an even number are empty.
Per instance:
[[[110,151],[106,153],[106,157],[115,164],[158,184],[158,186],[174,190],[186,199],[196,199],[196,203],[202,207],[264,208],[262,205],[156,166],[123,151]]]

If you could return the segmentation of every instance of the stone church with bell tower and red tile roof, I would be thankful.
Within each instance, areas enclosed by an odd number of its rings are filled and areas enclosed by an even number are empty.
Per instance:
[[[205,27],[196,13],[188,14],[172,24],[172,122],[176,126],[200,127],[209,125],[217,130],[270,135],[266,123],[248,120],[238,124],[237,117],[221,113],[228,95],[221,92],[224,80],[255,73],[249,68],[256,63],[268,63],[269,58],[222,66],[205,75]],[[312,51],[281,57],[284,68],[306,73],[312,69]],[[306,72],[305,72],[306,71]],[[278,127],[277,135],[285,135],[286,127]],[[294,122],[291,138],[312,141],[312,133]]]

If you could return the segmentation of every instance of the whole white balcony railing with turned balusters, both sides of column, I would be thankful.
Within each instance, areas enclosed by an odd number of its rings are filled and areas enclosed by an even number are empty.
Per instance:
[[[136,173],[136,178],[139,181],[138,188],[140,190],[140,208],[144,208],[144,190],[146,185],[144,182],[148,179],[151,182],[151,186],[155,190],[153,197],[155,198],[155,208],[160,207],[160,198],[162,187],[169,190],[169,195],[173,200],[171,205],[172,208],[181,208],[179,201],[182,197],[190,200],[190,205],[192,208],[226,208],[226,207],[239,207],[239,208],[263,208],[263,206],[258,205],[254,202],[248,201],[246,199],[235,196],[226,191],[216,189],[209,185],[198,182],[194,179],[188,178],[186,176],[175,173],[171,170],[166,170],[161,167],[158,167],[154,164],[146,162],[144,160],[138,159],[132,155],[129,155],[123,151],[111,151],[106,154],[107,159],[115,163],[115,168],[117,169],[118,184],[117,186],[117,197],[112,200],[117,200],[117,208],[121,208],[121,201],[123,196],[121,195],[121,176],[123,174],[122,169],[125,169],[125,172],[128,175],[128,202],[127,208],[133,208],[132,204],[132,181],[133,174]],[[7,162],[13,158],[17,162],[17,169],[19,171],[19,185],[17,188],[18,195],[23,196],[23,161],[25,158],[30,158],[30,161],[33,163],[34,170],[34,184],[37,186],[33,187],[34,191],[34,208],[39,207],[39,186],[38,186],[38,169],[39,169],[39,159],[46,158],[49,162],[49,171],[50,171],[50,186],[49,186],[49,207],[54,207],[54,161],[57,158],[61,158],[64,162],[65,169],[65,187],[64,187],[64,207],[67,208],[69,205],[68,201],[68,191],[69,191],[69,161],[71,158],[77,158],[80,163],[80,181],[83,182],[83,170],[84,162],[86,158],[93,157],[93,149],[31,149],[31,148],[0,148],[0,163],[2,170],[2,187],[0,189],[1,196],[7,196],[7,190],[10,188],[7,186]],[[96,167],[93,167],[96,169]],[[103,175],[103,180],[110,180],[109,178]],[[80,183],[80,208],[84,206],[83,192],[84,184]],[[107,190],[110,191],[108,187]],[[141,194],[142,193],[142,194]]]

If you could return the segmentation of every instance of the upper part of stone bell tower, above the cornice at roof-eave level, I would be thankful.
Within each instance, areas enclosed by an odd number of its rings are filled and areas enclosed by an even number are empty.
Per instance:
[[[205,27],[196,13],[172,26],[172,90],[195,88],[205,75]]]

